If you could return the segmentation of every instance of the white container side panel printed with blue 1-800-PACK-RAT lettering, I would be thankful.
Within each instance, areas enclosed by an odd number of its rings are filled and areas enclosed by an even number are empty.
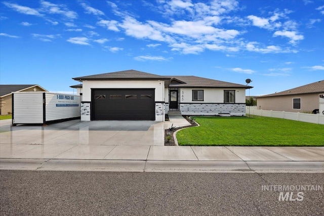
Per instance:
[[[80,96],[45,93],[46,121],[80,117]]]

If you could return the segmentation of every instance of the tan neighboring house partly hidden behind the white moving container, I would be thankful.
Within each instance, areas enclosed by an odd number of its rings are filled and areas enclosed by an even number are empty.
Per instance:
[[[12,92],[47,92],[47,90],[36,84],[0,85],[1,115],[12,113]]]

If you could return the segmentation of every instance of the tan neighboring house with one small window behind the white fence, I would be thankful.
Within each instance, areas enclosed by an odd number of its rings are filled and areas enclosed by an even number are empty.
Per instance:
[[[324,93],[324,80],[294,89],[257,97],[257,107],[263,110],[312,112],[319,109],[319,94]]]

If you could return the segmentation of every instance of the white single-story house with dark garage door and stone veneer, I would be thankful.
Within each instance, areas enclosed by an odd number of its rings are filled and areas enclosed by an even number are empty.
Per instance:
[[[73,78],[82,93],[81,120],[158,120],[182,115],[245,115],[246,85],[197,76],[160,76],[136,70]],[[81,89],[82,88],[82,89]]]

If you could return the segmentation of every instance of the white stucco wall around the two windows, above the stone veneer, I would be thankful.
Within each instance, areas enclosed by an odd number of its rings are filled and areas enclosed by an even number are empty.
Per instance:
[[[204,90],[204,101],[192,101],[192,90]],[[224,90],[235,90],[235,103],[245,103],[245,89],[180,89],[180,103],[224,103]]]

